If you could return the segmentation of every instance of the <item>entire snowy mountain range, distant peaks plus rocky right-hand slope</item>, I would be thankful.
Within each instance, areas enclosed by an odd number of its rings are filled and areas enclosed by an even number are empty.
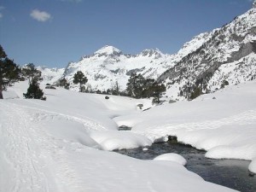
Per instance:
[[[212,32],[195,36],[174,55],[159,49],[130,55],[107,45],[70,62],[65,69],[38,69],[45,83],[54,84],[65,77],[73,90],[78,90],[73,75],[79,70],[94,90],[108,90],[116,81],[125,90],[131,73],[141,73],[166,84],[167,97],[183,100],[198,88],[203,93],[215,91],[224,80],[239,84],[256,79],[256,8]]]

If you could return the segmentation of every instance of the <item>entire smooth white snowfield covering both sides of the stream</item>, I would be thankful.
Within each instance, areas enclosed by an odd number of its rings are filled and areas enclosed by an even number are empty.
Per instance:
[[[193,102],[149,108],[149,100],[44,90],[25,100],[27,82],[0,100],[0,191],[235,191],[205,182],[181,156],[137,160],[109,150],[137,148],[167,135],[207,150],[207,157],[253,160],[256,172],[256,82]],[[215,96],[216,99],[212,99]],[[131,131],[118,131],[131,125]]]

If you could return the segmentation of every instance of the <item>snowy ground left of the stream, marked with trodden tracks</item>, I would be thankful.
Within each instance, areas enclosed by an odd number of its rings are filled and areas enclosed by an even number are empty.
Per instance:
[[[182,165],[99,150],[151,140],[117,131],[113,117],[142,113],[127,97],[44,90],[47,101],[17,99],[27,82],[0,100],[0,191],[234,191],[207,183]],[[16,98],[16,99],[13,99]]]

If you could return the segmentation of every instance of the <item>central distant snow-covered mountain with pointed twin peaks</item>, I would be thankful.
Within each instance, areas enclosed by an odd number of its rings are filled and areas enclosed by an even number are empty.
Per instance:
[[[142,73],[146,78],[157,79],[167,68],[172,55],[165,55],[159,49],[145,49],[140,54],[124,54],[113,46],[104,46],[92,55],[84,55],[79,62],[71,62],[64,76],[71,82],[77,71],[88,78],[88,84],[94,90],[108,90],[118,81],[120,89],[125,90],[131,73]]]

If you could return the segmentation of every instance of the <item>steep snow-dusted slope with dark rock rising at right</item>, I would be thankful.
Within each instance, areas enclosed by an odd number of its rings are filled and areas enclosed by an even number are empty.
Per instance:
[[[256,79],[255,8],[200,36],[201,46],[160,76],[167,96],[189,98],[195,88],[206,93],[219,89],[224,80],[238,84]]]

